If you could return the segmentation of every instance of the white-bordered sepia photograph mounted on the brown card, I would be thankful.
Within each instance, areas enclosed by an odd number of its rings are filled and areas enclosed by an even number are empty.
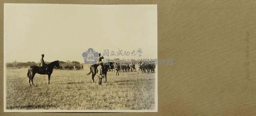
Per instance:
[[[158,112],[157,24],[156,4],[5,3],[4,112]]]

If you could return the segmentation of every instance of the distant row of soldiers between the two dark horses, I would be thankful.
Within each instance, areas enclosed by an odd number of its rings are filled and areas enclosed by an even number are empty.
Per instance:
[[[84,70],[84,66],[82,64],[60,63],[60,68],[56,70]]]

